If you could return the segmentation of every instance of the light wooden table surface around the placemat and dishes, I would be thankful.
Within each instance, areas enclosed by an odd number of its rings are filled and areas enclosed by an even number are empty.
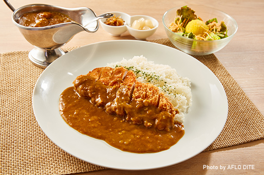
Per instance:
[[[89,7],[97,15],[109,11],[121,11],[129,15],[148,15],[159,21],[154,35],[148,38],[167,38],[162,26],[162,16],[170,8],[187,4],[200,4],[215,7],[231,15],[238,23],[238,32],[230,43],[216,57],[238,82],[247,96],[264,114],[264,0],[9,0],[15,8],[32,3],[46,3],[63,7]],[[30,51],[29,44],[12,23],[12,11],[0,1],[0,53]],[[87,44],[116,40],[134,39],[127,32],[119,37],[107,34],[99,28],[95,34],[79,33],[64,47],[84,46]],[[157,161],[162,161],[157,159]],[[218,169],[203,168],[204,165]],[[239,165],[242,166],[238,169]],[[252,165],[253,169],[243,169]],[[226,166],[226,170],[220,170]],[[232,169],[227,169],[230,166]],[[249,166],[248,166],[249,167]],[[189,160],[157,170],[122,171],[103,170],[79,175],[264,175],[264,140],[224,149],[208,151]]]

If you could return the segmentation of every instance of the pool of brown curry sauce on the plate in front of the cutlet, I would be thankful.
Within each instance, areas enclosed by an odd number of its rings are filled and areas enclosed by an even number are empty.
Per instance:
[[[135,106],[132,106],[132,108]],[[155,153],[169,149],[184,135],[182,123],[174,123],[169,131],[144,124],[132,124],[120,116],[110,114],[103,107],[80,97],[74,87],[65,89],[59,100],[64,121],[78,132],[104,140],[122,151]],[[135,114],[140,115],[140,114]]]

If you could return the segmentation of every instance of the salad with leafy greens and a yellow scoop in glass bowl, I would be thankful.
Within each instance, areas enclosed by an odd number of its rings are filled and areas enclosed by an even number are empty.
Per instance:
[[[212,18],[204,22],[197,17],[195,12],[188,6],[177,10],[175,20],[169,29],[178,35],[196,40],[218,40],[227,37],[227,28],[224,21]]]

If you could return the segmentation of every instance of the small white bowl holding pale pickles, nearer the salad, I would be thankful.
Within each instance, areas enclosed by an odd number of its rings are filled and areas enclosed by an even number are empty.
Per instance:
[[[131,26],[132,26],[132,23],[135,21],[135,20],[138,20],[140,18],[144,18],[144,19],[149,19],[151,20],[154,28],[152,29],[149,29],[149,30],[138,30],[138,29],[133,29]],[[159,26],[159,22],[155,19],[155,18],[152,18],[152,17],[149,17],[149,16],[146,16],[146,15],[135,15],[135,16],[132,16],[130,18],[130,23],[128,23],[127,25],[127,28],[128,28],[128,32],[130,33],[130,35],[134,36],[136,39],[139,39],[139,40],[145,40],[147,37],[150,37],[151,35],[153,35],[157,28]]]

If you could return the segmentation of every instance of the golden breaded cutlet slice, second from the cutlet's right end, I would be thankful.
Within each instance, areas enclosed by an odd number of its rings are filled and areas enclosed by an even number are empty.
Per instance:
[[[146,84],[147,90],[146,90],[146,96],[145,99],[149,100],[150,103],[154,106],[158,106],[158,100],[159,100],[159,88],[152,84]]]

